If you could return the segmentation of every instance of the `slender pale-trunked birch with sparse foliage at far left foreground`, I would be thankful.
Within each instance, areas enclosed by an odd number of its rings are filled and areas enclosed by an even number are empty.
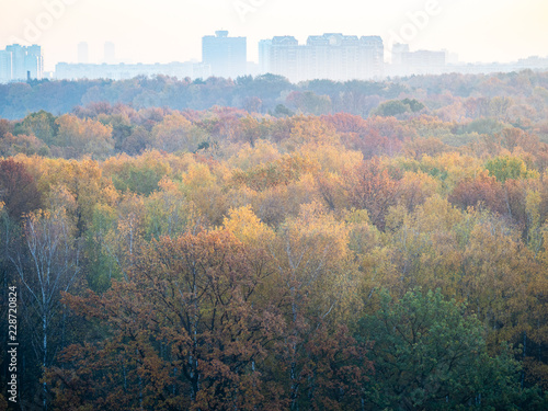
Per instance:
[[[22,317],[31,330],[31,343],[42,372],[52,365],[62,345],[65,317],[60,295],[79,279],[79,247],[73,229],[64,207],[31,213],[25,216],[21,249],[10,253],[19,276]],[[45,380],[41,398],[46,409]]]

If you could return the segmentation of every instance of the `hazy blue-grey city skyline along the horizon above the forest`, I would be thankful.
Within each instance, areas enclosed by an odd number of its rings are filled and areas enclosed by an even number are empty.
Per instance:
[[[310,35],[299,44],[290,35],[274,36],[259,42],[259,62],[248,61],[247,37],[231,37],[228,31],[202,37],[202,61],[170,64],[127,64],[117,60],[115,45],[104,44],[104,59],[90,62],[89,45],[78,44],[78,62],[58,62],[55,71],[44,70],[39,45],[13,44],[0,50],[0,83],[27,80],[126,80],[138,76],[170,76],[179,79],[272,73],[289,81],[327,79],[332,81],[383,80],[391,77],[443,73],[512,72],[524,69],[548,70],[548,56],[532,56],[514,62],[470,64],[458,61],[447,50],[411,50],[408,44],[391,47],[386,61],[380,36],[356,36],[342,33]]]

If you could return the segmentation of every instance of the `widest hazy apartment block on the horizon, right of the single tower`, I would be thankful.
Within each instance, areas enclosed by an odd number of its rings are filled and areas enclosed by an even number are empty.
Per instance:
[[[374,79],[384,76],[384,44],[379,36],[326,33],[299,45],[293,36],[275,36],[259,44],[259,66],[290,81]]]

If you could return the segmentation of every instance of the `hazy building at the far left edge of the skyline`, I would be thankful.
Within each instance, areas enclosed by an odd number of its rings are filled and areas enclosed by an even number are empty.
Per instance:
[[[44,57],[41,46],[12,44],[5,50],[0,50],[0,82],[41,80],[43,76]]]

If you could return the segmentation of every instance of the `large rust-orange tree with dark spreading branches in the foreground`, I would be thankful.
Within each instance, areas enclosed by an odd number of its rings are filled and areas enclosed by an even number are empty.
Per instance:
[[[271,273],[250,251],[228,231],[162,238],[142,250],[127,282],[102,297],[68,298],[111,336],[65,352],[67,367],[78,367],[49,372],[56,407],[283,407],[265,367],[285,326],[275,296],[255,298]]]

